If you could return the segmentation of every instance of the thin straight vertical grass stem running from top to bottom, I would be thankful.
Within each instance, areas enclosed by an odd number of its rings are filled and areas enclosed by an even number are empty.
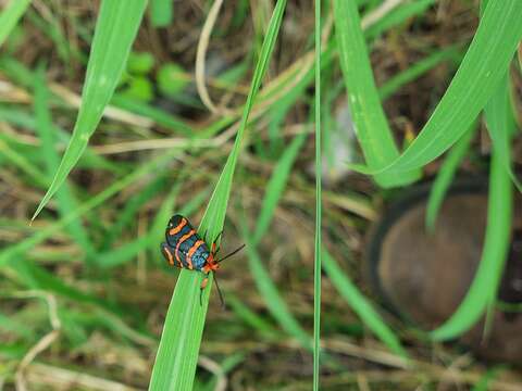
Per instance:
[[[321,0],[315,0],[315,243],[313,262],[313,390],[319,391],[321,357],[321,228],[322,228],[322,148],[321,148]]]

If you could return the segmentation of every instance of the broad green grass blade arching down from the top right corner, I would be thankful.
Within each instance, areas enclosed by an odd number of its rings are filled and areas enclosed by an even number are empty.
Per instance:
[[[372,175],[409,172],[451,147],[495,93],[522,37],[521,20],[522,1],[490,0],[457,74],[419,136],[383,169],[352,168]]]

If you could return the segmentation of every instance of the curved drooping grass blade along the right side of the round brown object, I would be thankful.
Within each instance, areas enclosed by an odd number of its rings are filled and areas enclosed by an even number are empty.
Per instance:
[[[509,113],[506,106],[506,104],[509,106],[509,99],[502,99],[502,96],[507,93],[507,84],[504,83],[498,87],[486,110],[486,114],[490,111],[499,113],[494,115],[494,118],[499,121],[490,121],[487,124],[492,133],[501,131],[497,127],[507,125],[506,117]],[[506,140],[506,142],[509,141]],[[508,153],[509,160],[509,147],[505,146],[502,150]],[[509,172],[506,171],[504,156],[500,156],[498,152],[499,149],[493,149],[487,225],[481,262],[471,287],[459,307],[448,320],[431,332],[432,338],[437,341],[448,340],[467,331],[478,320],[486,306],[497,294],[509,251],[513,197]]]

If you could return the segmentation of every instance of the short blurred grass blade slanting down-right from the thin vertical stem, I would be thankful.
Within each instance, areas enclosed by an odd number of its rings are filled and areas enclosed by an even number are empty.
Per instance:
[[[391,352],[403,358],[408,358],[408,353],[400,344],[399,338],[386,325],[364,295],[359,292],[353,282],[350,281],[337,262],[335,262],[333,256],[325,249],[323,249],[323,269],[334,287],[362,319],[364,325],[366,325]]]

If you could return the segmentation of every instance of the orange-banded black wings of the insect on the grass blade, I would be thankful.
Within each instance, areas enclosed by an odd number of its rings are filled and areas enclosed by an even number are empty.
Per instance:
[[[196,270],[202,269],[210,251],[185,217],[175,215],[171,218],[165,239],[177,266]],[[171,262],[170,258],[167,261]]]

